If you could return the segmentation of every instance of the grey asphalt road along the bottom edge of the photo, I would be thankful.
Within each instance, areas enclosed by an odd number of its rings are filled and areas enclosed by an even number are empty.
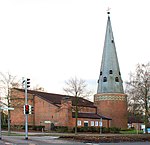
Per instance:
[[[82,143],[75,141],[60,140],[53,136],[30,136],[25,140],[23,136],[3,136],[0,145],[150,145],[150,142],[132,143]]]

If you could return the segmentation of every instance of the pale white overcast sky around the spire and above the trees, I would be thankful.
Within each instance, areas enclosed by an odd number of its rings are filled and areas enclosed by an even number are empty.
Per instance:
[[[107,8],[122,79],[150,61],[150,0],[1,0],[0,71],[63,93],[71,77],[97,90]]]

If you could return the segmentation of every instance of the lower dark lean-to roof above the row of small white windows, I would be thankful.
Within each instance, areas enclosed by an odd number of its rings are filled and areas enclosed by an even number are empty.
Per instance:
[[[75,118],[75,112],[72,112],[72,117]],[[96,113],[78,113],[78,118],[90,118],[90,119],[103,119],[103,120],[112,120],[111,118],[101,116]]]

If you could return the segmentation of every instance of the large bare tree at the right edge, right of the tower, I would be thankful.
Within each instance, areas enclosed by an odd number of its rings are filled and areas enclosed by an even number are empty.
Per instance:
[[[130,74],[130,80],[127,82],[128,109],[132,112],[144,114],[145,132],[150,111],[150,62],[147,64],[138,64],[135,73]]]

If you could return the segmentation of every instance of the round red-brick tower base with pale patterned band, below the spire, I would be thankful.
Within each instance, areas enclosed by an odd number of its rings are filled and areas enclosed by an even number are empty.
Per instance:
[[[111,126],[127,128],[127,101],[125,94],[96,94],[94,103],[99,114],[112,118]]]

